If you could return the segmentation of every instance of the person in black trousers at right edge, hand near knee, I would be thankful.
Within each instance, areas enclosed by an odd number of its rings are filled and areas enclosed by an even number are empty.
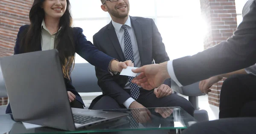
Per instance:
[[[256,64],[202,80],[199,89],[208,94],[209,88],[223,77],[227,80],[221,87],[219,118],[256,117]]]

